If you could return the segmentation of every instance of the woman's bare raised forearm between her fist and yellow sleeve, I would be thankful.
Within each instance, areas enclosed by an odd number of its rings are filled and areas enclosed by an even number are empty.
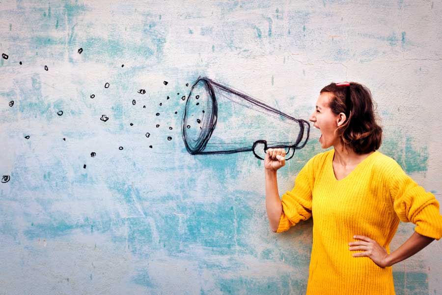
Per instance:
[[[267,216],[269,217],[270,228],[276,233],[279,226],[279,219],[282,214],[282,204],[281,199],[279,199],[276,170],[265,169],[265,175]]]

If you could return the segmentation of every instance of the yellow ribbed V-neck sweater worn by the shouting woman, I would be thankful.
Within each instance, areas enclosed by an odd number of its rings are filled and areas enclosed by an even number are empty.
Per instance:
[[[386,247],[399,221],[413,222],[423,235],[442,237],[442,215],[434,195],[408,177],[396,161],[379,151],[366,157],[345,178],[336,180],[334,149],[311,158],[282,196],[277,233],[313,214],[313,245],[307,295],[389,295],[394,293],[390,267],[369,257],[353,257],[354,235]]]

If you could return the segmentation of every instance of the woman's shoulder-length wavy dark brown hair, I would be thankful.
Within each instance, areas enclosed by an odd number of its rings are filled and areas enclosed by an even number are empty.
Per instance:
[[[345,103],[346,91],[350,87],[350,110]],[[379,149],[382,143],[382,128],[376,122],[371,91],[356,82],[350,86],[336,86],[331,83],[321,89],[321,92],[331,92],[331,111],[347,116],[345,122],[336,130],[346,147],[352,148],[358,154],[369,153]]]

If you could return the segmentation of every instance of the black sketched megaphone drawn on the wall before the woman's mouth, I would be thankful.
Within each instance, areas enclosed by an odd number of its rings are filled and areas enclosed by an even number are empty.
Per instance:
[[[289,160],[307,143],[310,124],[200,77],[187,97],[182,132],[193,155],[253,151],[263,160],[268,148],[288,148]]]

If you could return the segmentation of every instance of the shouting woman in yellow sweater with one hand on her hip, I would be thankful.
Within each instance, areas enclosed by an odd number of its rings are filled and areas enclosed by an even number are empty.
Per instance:
[[[333,149],[305,164],[282,201],[276,171],[285,165],[285,151],[267,150],[270,227],[279,233],[313,216],[307,295],[395,294],[391,266],[442,237],[439,203],[377,151],[382,128],[366,87],[324,87],[310,121],[322,133],[321,147]],[[415,232],[390,254],[399,221],[416,224]]]

